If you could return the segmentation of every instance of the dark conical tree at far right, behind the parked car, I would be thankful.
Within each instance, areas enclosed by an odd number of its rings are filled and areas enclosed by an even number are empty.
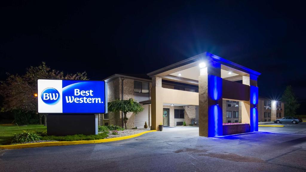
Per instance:
[[[297,103],[297,98],[291,85],[286,87],[282,95],[282,101],[285,104],[285,116],[294,116],[296,114],[296,110],[300,107],[300,104]]]

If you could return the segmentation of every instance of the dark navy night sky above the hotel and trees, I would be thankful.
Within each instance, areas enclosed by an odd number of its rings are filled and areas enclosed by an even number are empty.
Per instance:
[[[6,4],[4,4],[6,3]],[[0,80],[46,62],[65,73],[149,73],[203,52],[256,70],[259,94],[305,92],[305,4],[247,1],[1,2]]]

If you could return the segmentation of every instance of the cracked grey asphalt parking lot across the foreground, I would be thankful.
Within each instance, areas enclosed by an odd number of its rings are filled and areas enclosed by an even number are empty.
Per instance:
[[[305,171],[306,123],[281,125],[220,138],[180,127],[103,144],[5,150],[0,171]]]

